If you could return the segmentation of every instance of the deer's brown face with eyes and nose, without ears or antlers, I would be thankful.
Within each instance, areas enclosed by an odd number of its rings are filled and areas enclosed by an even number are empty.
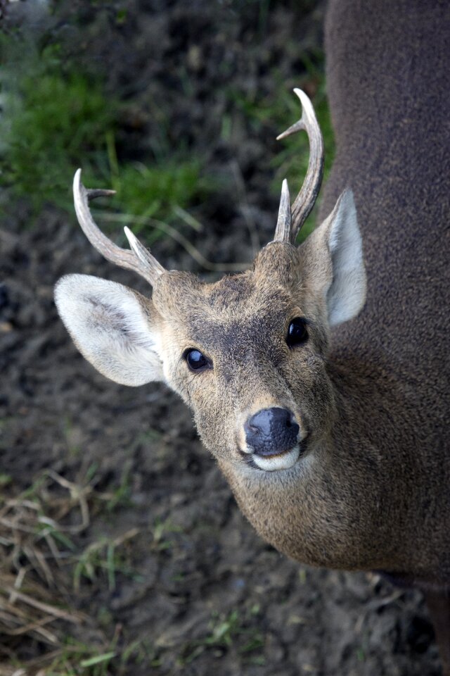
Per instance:
[[[326,331],[319,304],[304,297],[297,249],[273,243],[250,273],[216,284],[166,273],[153,305],[165,380],[193,409],[205,446],[253,468],[293,465],[330,399]]]

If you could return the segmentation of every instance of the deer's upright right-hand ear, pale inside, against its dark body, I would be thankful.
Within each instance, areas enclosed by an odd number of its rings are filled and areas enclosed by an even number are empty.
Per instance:
[[[355,317],[366,301],[366,270],[351,190],[342,193],[299,253],[309,288],[326,302],[329,325]]]

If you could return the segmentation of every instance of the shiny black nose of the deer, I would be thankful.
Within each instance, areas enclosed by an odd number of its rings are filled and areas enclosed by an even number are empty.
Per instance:
[[[258,456],[276,456],[297,444],[300,427],[286,408],[263,408],[244,424],[245,439]]]

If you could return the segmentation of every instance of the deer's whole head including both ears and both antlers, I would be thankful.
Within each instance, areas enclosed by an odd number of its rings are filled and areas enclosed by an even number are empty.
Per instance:
[[[366,277],[352,192],[299,247],[295,237],[314,206],[323,143],[306,94],[302,118],[282,137],[306,130],[311,153],[290,207],[283,182],[274,240],[248,272],[206,284],[167,271],[125,228],[131,251],[95,225],[89,200],[111,194],[74,181],[79,223],[105,258],[135,270],[151,299],[86,275],[56,286],[56,305],[79,351],[103,375],[127,385],[161,380],[191,406],[200,437],[233,471],[295,472],[333,422],[327,375],[330,329],[364,304]]]

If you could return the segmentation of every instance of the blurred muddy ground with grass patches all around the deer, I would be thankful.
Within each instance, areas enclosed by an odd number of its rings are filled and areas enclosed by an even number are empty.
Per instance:
[[[166,268],[245,268],[296,194],[311,97],[333,161],[315,0],[0,2],[0,676],[431,676],[418,594],[313,570],[240,515],[162,384],[108,382],[53,305],[92,249],[72,177],[113,188]],[[314,212],[301,237],[314,227]]]

